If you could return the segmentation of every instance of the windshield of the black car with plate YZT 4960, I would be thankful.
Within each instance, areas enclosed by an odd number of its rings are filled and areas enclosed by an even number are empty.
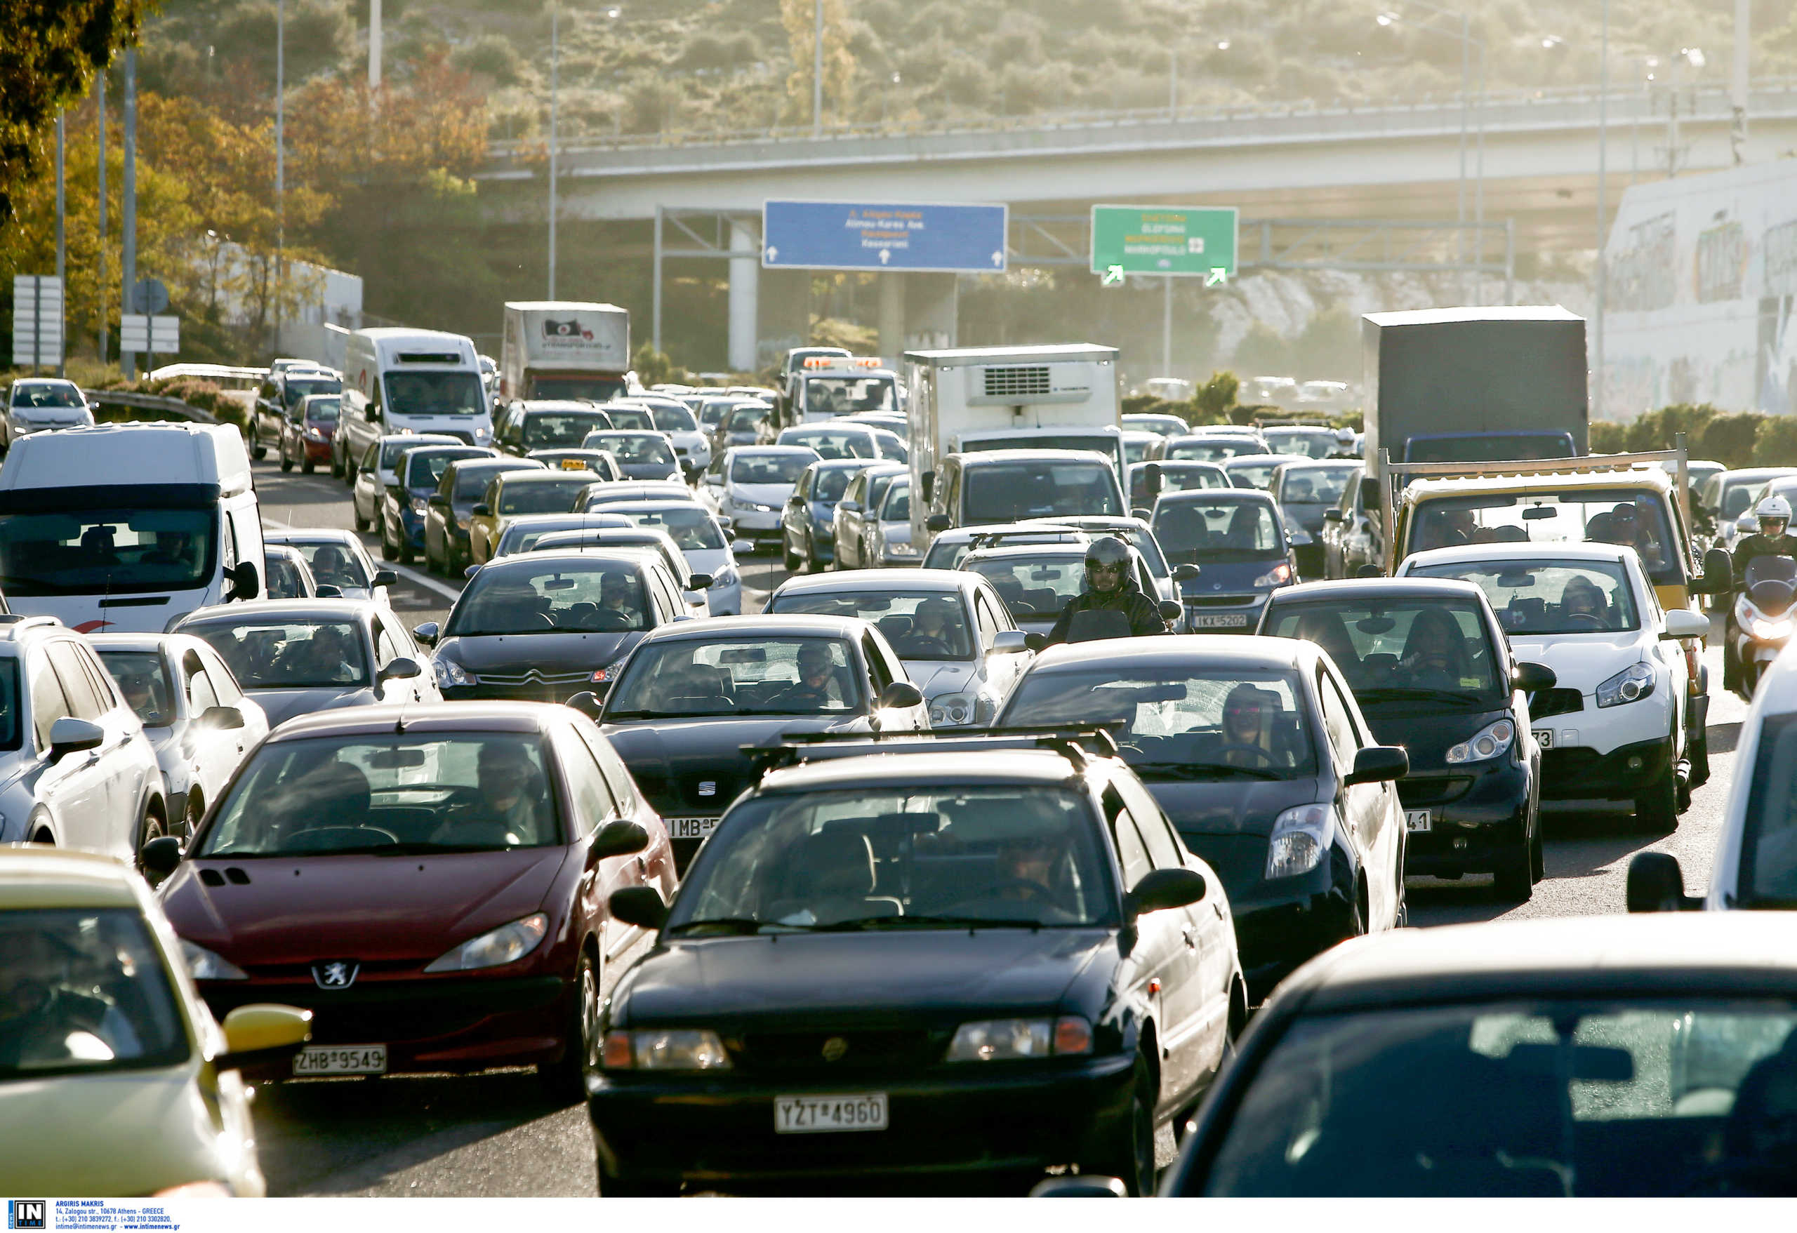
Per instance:
[[[1062,787],[760,796],[719,823],[667,933],[1112,924],[1102,843]]]

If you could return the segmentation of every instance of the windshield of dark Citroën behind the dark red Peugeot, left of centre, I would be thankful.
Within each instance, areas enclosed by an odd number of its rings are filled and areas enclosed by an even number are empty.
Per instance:
[[[636,568],[620,561],[537,564],[509,557],[476,573],[446,636],[627,633],[654,629],[654,606]]]

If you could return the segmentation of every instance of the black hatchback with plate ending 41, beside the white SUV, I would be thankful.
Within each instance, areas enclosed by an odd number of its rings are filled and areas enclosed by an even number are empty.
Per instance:
[[[1288,586],[1258,633],[1323,647],[1378,742],[1409,751],[1409,874],[1492,874],[1499,897],[1529,899],[1545,872],[1531,706],[1556,678],[1517,660],[1483,590],[1423,577]]]

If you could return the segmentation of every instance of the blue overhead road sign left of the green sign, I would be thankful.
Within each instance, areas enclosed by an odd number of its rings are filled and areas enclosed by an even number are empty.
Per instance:
[[[766,201],[767,270],[1005,270],[1003,205]]]

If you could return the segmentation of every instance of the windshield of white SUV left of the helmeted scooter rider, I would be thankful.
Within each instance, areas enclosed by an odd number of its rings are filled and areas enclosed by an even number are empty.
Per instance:
[[[1506,634],[1641,629],[1623,566],[1610,561],[1466,561],[1411,568],[1409,577],[1474,582]]]

